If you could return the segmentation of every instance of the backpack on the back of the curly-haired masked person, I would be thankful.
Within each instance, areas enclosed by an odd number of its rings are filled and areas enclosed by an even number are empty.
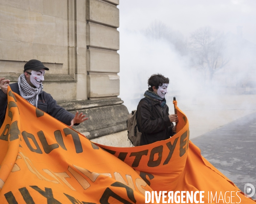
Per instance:
[[[141,101],[147,102],[147,104],[150,107],[150,111],[152,113],[153,108],[152,108],[151,100],[145,97],[141,99],[140,102]],[[131,141],[131,144],[133,144],[134,146],[139,146],[142,131],[140,130],[140,126],[137,123],[137,110],[131,111],[131,113],[128,116],[128,119],[126,120],[126,125],[127,125],[128,139]]]

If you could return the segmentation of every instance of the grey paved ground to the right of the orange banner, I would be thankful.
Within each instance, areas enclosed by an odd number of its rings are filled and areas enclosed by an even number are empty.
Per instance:
[[[246,183],[256,188],[256,113],[209,131],[192,142],[241,191]]]

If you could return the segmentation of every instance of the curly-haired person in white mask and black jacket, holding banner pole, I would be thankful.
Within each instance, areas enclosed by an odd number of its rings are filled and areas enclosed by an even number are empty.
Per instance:
[[[153,74],[148,79],[145,98],[140,100],[137,107],[137,124],[142,133],[140,145],[169,139],[176,133],[176,126],[172,122],[178,122],[177,115],[169,115],[166,105],[168,85],[169,79],[161,74]]]

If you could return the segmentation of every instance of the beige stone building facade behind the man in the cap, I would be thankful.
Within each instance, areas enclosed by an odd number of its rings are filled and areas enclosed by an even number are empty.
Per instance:
[[[119,0],[0,0],[0,77],[11,82],[30,59],[46,72],[44,91],[70,112],[89,139],[126,128],[119,95]],[[89,134],[90,133],[90,134]]]

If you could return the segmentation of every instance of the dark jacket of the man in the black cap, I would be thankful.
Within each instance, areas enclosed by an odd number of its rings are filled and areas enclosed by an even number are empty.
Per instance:
[[[10,87],[13,92],[20,95],[18,83],[10,84]],[[0,127],[3,125],[3,121],[5,119],[6,108],[7,95],[0,90]],[[47,94],[44,91],[41,91],[41,93],[38,94],[38,108],[66,125],[71,125],[71,120],[75,116],[57,105],[57,102],[52,98],[51,94]]]

